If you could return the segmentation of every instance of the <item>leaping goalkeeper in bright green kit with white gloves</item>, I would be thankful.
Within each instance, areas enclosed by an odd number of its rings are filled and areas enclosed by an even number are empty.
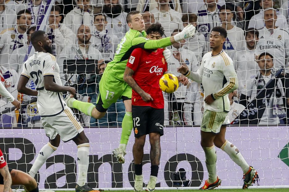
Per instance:
[[[182,39],[189,38],[195,34],[195,27],[186,26],[182,32],[167,38],[159,40],[149,40],[146,37],[145,22],[139,11],[131,11],[126,17],[130,30],[125,34],[119,43],[113,61],[109,62],[99,83],[99,97],[97,104],[77,101],[66,97],[65,101],[71,108],[76,108],[82,113],[92,116],[93,118],[102,118],[107,108],[115,103],[119,98],[124,101],[126,113],[122,122],[122,133],[119,147],[113,150],[114,156],[120,163],[124,163],[126,146],[128,138],[132,132],[132,88],[124,82],[124,70],[127,62],[133,63],[134,57],[130,57],[132,51],[136,48],[158,49],[170,46]],[[170,56],[169,50],[164,50],[163,55],[167,60]],[[129,61],[128,61],[128,58]]]

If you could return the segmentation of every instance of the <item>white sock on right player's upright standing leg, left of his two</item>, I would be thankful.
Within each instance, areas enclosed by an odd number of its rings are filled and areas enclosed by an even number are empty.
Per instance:
[[[216,168],[217,154],[215,145],[211,147],[203,147],[203,150],[205,151],[206,166],[209,174],[208,182],[214,183],[217,180],[217,168]]]

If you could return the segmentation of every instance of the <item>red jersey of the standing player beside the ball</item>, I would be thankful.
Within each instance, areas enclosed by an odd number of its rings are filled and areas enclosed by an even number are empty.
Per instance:
[[[145,102],[135,90],[132,90],[132,105],[164,108],[164,97],[159,80],[167,71],[168,66],[162,52],[163,49],[157,49],[157,52],[154,53],[152,50],[142,48],[132,51],[127,63],[127,66],[134,71],[132,78],[142,90],[153,98],[153,101]]]

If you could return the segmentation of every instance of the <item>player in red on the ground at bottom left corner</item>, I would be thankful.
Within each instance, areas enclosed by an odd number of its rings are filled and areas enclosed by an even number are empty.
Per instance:
[[[38,192],[37,182],[27,173],[8,168],[0,149],[0,191],[12,192],[12,185],[23,185],[28,192]]]

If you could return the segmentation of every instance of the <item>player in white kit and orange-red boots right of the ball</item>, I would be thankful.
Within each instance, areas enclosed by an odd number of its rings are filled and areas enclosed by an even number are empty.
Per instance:
[[[201,146],[206,156],[208,180],[200,189],[214,189],[221,185],[217,176],[217,154],[215,146],[225,151],[244,172],[243,189],[254,181],[257,171],[250,167],[236,146],[225,139],[226,126],[230,123],[227,116],[230,110],[228,94],[238,88],[237,74],[233,61],[223,50],[227,31],[214,27],[210,34],[211,52],[206,53],[199,70],[191,72],[186,66],[180,66],[178,72],[195,82],[202,83],[204,88],[204,114],[201,124]],[[212,83],[214,82],[214,83]]]

